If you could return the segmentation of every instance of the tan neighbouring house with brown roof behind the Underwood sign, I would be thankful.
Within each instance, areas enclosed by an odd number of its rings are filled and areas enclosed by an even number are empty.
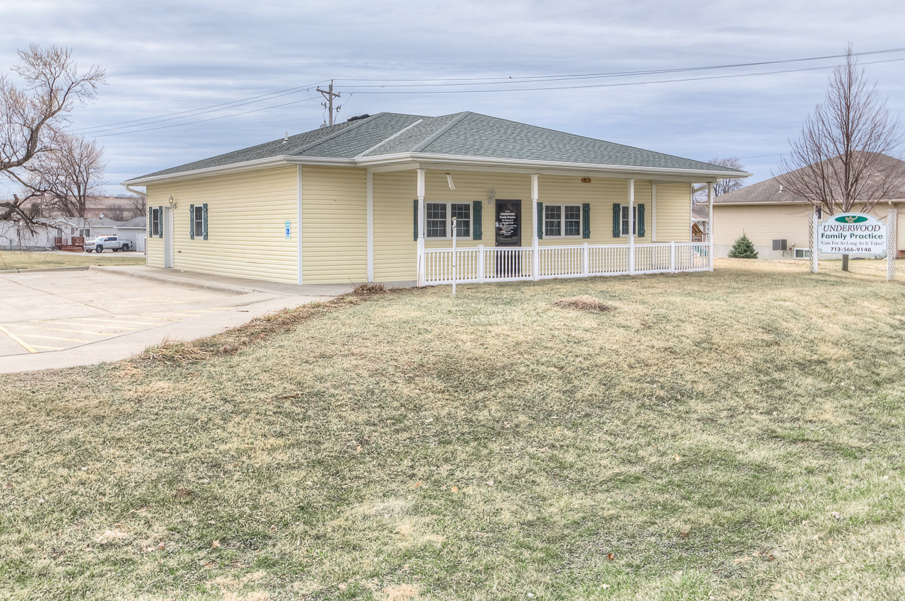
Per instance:
[[[905,163],[889,157],[887,166],[905,168]],[[886,222],[890,208],[898,208],[898,249],[905,254],[905,181],[882,199],[871,213]],[[861,213],[856,203],[852,212]],[[838,213],[838,211],[837,211]],[[758,259],[807,259],[810,253],[810,227],[814,205],[783,190],[776,178],[767,179],[713,200],[714,253],[729,255],[729,249],[741,234],[754,243]],[[827,215],[823,215],[825,219]],[[833,255],[821,253],[821,257]]]

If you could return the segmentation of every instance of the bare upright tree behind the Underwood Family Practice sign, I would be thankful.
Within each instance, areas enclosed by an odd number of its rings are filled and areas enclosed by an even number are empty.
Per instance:
[[[900,143],[899,123],[891,119],[876,83],[867,81],[850,44],[845,64],[830,76],[825,100],[780,161],[783,174],[776,180],[829,215],[847,213],[856,203],[870,211],[905,181],[889,157]],[[843,271],[848,271],[847,254]]]

